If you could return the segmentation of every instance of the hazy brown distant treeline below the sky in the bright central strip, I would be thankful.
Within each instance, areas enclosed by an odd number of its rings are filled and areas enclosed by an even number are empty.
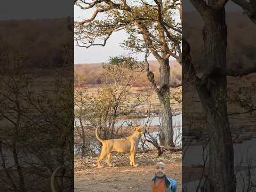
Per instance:
[[[150,70],[155,74],[156,81],[159,80],[159,65],[157,61],[149,61]],[[75,76],[83,76],[85,85],[97,85],[102,82],[102,63],[76,64]],[[149,86],[146,72],[140,73],[140,77],[134,86],[142,87]],[[170,81],[172,84],[180,83],[181,81],[181,66],[176,61],[170,61]]]

